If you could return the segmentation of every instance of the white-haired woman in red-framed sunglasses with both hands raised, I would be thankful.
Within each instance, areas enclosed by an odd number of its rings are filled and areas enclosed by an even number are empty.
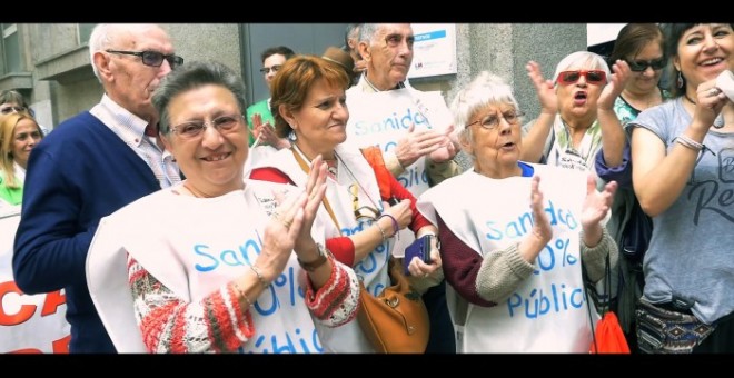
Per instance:
[[[577,51],[561,60],[549,81],[543,78],[539,64],[530,61],[528,76],[542,109],[526,126],[529,130],[523,138],[520,159],[594,171],[594,157],[604,147],[607,161],[618,163],[625,135],[613,107],[629,77],[629,67],[617,61],[613,68],[615,74],[604,58]]]

